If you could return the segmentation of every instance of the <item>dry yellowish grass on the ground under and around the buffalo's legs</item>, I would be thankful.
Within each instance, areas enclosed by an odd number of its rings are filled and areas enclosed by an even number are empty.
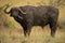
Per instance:
[[[0,31],[1,43],[65,43],[65,32],[57,30],[55,38],[50,35],[50,30],[34,27],[29,37],[25,38],[21,29],[2,29]]]

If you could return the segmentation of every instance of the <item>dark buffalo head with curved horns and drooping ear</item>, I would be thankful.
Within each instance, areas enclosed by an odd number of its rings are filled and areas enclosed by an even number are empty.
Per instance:
[[[12,8],[9,12],[6,11],[6,9],[9,8],[9,5],[6,5],[6,8],[4,9],[4,13],[6,14],[11,14],[10,16],[12,17],[18,17],[21,19],[23,19],[23,15],[25,15],[26,13],[23,12],[20,8]]]

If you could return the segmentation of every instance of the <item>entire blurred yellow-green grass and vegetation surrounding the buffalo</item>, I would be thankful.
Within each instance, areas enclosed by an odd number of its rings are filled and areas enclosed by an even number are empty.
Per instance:
[[[6,4],[11,6],[8,9],[10,11],[13,6],[23,5],[53,5],[60,10],[58,15],[58,26],[64,32],[56,33],[56,38],[52,39],[48,37],[48,30],[40,30],[35,28],[31,31],[32,34],[28,39],[22,35],[23,30],[18,23],[16,23],[10,14],[3,12]],[[48,27],[47,27],[48,28]],[[34,33],[35,32],[35,33]],[[42,33],[44,32],[44,34]],[[0,43],[65,43],[65,0],[0,0]]]

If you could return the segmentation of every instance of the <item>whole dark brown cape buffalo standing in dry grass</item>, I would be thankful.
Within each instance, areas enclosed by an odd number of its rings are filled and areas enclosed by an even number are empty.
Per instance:
[[[51,5],[25,5],[12,8],[9,12],[6,11],[9,6],[4,9],[6,14],[10,14],[17,23],[23,26],[24,35],[29,35],[32,26],[46,25],[50,26],[51,35],[55,35],[58,9]]]

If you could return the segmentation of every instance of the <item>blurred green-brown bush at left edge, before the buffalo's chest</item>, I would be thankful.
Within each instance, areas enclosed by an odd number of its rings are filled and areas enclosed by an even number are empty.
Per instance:
[[[10,17],[8,17],[8,15],[4,14],[3,12],[3,8],[0,8],[0,28],[5,27],[5,28],[14,28],[14,24],[13,22],[11,22]]]

